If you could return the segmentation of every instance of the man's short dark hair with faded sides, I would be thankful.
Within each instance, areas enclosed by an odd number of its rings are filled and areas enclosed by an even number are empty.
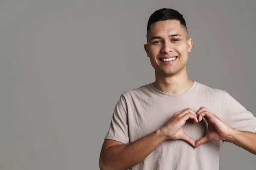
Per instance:
[[[148,19],[148,26],[147,26],[147,40],[148,40],[148,33],[150,30],[150,26],[152,23],[155,23],[157,21],[164,21],[164,20],[178,20],[180,21],[180,25],[183,26],[183,28],[187,31],[188,36],[188,29],[186,27],[186,21],[183,18],[183,15],[180,14],[180,12],[176,11],[175,9],[171,8],[162,8],[158,9],[157,11],[154,11],[153,14]],[[188,38],[188,37],[186,37]]]

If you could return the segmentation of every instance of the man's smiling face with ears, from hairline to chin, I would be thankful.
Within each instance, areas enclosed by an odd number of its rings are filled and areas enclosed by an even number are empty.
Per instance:
[[[188,52],[191,52],[192,39],[187,39],[186,29],[178,20],[158,21],[151,24],[148,44],[144,45],[147,56],[156,74],[173,76],[186,70]],[[163,58],[169,58],[163,61]]]

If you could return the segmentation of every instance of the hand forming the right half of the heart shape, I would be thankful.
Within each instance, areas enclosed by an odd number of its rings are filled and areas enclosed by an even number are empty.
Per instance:
[[[195,147],[209,141],[226,140],[228,136],[231,135],[232,128],[219,119],[214,113],[209,111],[209,109],[201,107],[196,112],[196,115],[199,122],[203,117],[205,118],[208,123],[208,128],[205,136],[195,142]]]

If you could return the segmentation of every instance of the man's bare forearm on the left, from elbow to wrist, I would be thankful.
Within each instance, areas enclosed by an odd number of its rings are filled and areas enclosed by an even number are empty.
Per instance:
[[[102,157],[104,170],[127,170],[143,161],[166,137],[156,130],[132,143],[113,145]]]

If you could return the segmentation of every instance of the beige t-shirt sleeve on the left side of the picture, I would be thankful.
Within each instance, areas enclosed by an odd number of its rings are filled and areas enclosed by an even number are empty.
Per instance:
[[[121,94],[114,108],[111,124],[105,139],[129,143],[128,111],[124,94]]]

